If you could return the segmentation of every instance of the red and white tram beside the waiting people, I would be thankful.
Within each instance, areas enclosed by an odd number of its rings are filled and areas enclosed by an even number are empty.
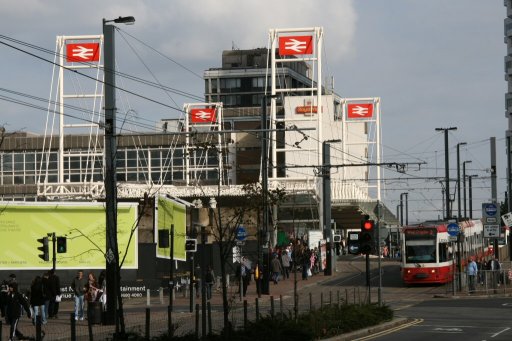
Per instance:
[[[401,230],[401,273],[404,284],[443,284],[457,272],[457,260],[464,266],[469,257],[489,256],[480,220],[459,222],[459,242],[451,241],[448,223],[423,223]],[[460,246],[460,249],[458,249]],[[460,252],[460,258],[457,257]]]

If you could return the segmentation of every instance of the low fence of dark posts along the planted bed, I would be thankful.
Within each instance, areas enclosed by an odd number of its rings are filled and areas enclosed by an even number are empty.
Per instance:
[[[153,300],[160,301],[158,296]],[[367,301],[364,288],[351,288],[337,291],[323,291],[313,293],[300,293],[293,299],[290,296],[266,296],[252,300],[240,301],[238,296],[230,295],[229,321],[233,328],[239,329],[247,326],[249,321],[256,321],[263,316],[283,318],[283,316],[296,316],[314,311],[324,305],[332,304],[361,304]],[[203,335],[202,307],[196,304],[194,311],[172,312],[172,332],[174,335],[194,334],[196,338]],[[127,333],[136,333],[150,339],[151,337],[166,334],[169,331],[169,307],[165,304],[156,304],[148,307],[144,301],[139,306],[131,306],[124,313]],[[221,305],[212,310],[210,302],[205,306],[206,320],[205,334],[219,333],[224,326]],[[67,319],[49,320],[47,324],[36,323],[34,326],[26,316],[20,319],[18,329],[25,335],[36,335],[36,340],[112,340],[116,332],[115,326],[94,324],[90,316],[87,321],[75,321],[74,314]],[[9,325],[0,322],[2,340],[8,339]],[[38,338],[39,336],[39,338]]]

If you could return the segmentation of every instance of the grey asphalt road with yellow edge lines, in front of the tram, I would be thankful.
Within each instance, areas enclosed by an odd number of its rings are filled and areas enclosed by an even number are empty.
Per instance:
[[[371,262],[373,302],[377,300],[379,286],[376,263]],[[347,274],[323,285],[333,288],[364,285],[363,259],[347,258],[344,264]],[[382,302],[395,310],[395,316],[407,317],[411,323],[357,340],[512,340],[511,297],[453,296],[451,285],[406,287],[400,280],[398,262],[383,261],[381,265]]]

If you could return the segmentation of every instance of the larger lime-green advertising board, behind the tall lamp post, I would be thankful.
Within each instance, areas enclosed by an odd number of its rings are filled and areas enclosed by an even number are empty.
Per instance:
[[[137,205],[120,203],[117,214],[120,258],[126,252],[122,267],[137,269]],[[37,240],[52,233],[67,240],[66,253],[56,254],[58,269],[105,269],[104,203],[0,202],[0,270],[51,268],[52,242],[46,262],[39,258]]]

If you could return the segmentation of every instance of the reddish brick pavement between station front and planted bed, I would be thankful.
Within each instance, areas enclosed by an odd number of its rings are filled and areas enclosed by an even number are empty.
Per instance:
[[[273,302],[279,302],[280,307],[282,309],[283,303],[287,302],[287,306],[290,304],[293,305],[293,292],[295,287],[295,282],[297,283],[297,291],[300,295],[303,296],[301,298],[302,304],[307,305],[307,298],[304,295],[308,295],[306,293],[311,292],[315,289],[314,287],[321,284],[322,282],[333,280],[335,277],[340,276],[341,273],[333,272],[331,276],[325,276],[323,273],[318,273],[313,275],[306,280],[301,279],[301,274],[297,273],[296,278],[294,280],[294,274],[291,273],[290,277],[278,282],[278,284],[270,283],[270,295],[261,295],[258,298],[258,294],[256,292],[256,285],[254,281],[251,281],[248,289],[247,295],[244,297],[244,300],[248,302],[248,304],[252,304],[254,306],[254,302],[258,299],[258,304],[261,307],[262,311],[260,313],[265,313],[264,309],[268,309],[268,307],[273,306]],[[313,290],[318,291],[318,290]],[[322,296],[324,302],[326,299]],[[331,297],[332,299],[332,297]],[[242,307],[242,303],[239,297],[238,288],[236,286],[230,286],[228,289],[228,300],[231,304],[231,307]],[[311,296],[309,296],[309,304],[311,304]],[[194,304],[200,304],[201,298],[194,298]],[[220,291],[214,290],[212,298],[210,300],[212,311],[221,311],[222,309],[222,295]],[[124,318],[127,330],[138,330],[141,335],[145,333],[145,321],[150,318],[151,325],[151,335],[156,336],[167,330],[167,307],[169,305],[169,298],[167,295],[163,295],[160,291],[150,293],[149,297],[144,298],[125,298],[123,299],[124,306]],[[194,327],[197,328],[197,325],[194,325],[195,312],[190,313],[190,297],[188,292],[177,292],[175,294],[175,299],[173,301],[173,323],[179,323],[184,326],[184,328],[191,328],[194,330]],[[279,308],[276,308],[278,310]],[[243,309],[238,309],[243,312]],[[148,317],[146,314],[150,311],[150,316]],[[60,304],[59,316],[56,319],[50,319],[46,325],[42,326],[42,330],[45,333],[45,337],[43,340],[70,340],[71,339],[71,317],[73,312],[73,302],[70,300],[63,301]],[[199,314],[198,314],[199,315]],[[222,315],[222,314],[217,314]],[[249,317],[251,318],[251,317]],[[243,324],[243,318],[238,318],[238,325],[240,323]],[[73,321],[76,323],[76,339],[77,340],[106,340],[112,337],[114,332],[114,326],[104,326],[100,324],[88,324],[87,320],[84,321]],[[395,319],[391,322],[392,325],[408,323],[407,319]],[[214,330],[219,330],[222,327],[222,317],[216,318],[212,320],[212,326],[214,326]],[[389,328],[389,327],[388,327]],[[5,323],[2,328],[2,340],[8,340],[9,326]],[[22,317],[20,319],[19,325],[20,331],[25,335],[30,335],[34,337],[36,335],[35,327],[31,324],[30,319],[27,317]],[[361,331],[360,335],[368,335],[370,333],[369,329]],[[94,335],[94,338],[91,338],[90,335]],[[348,335],[348,334],[347,334]],[[345,335],[345,337],[347,337]],[[358,334],[359,335],[359,334]],[[341,336],[340,336],[341,337]],[[333,339],[333,340],[351,340],[351,338],[342,338],[342,339]]]

